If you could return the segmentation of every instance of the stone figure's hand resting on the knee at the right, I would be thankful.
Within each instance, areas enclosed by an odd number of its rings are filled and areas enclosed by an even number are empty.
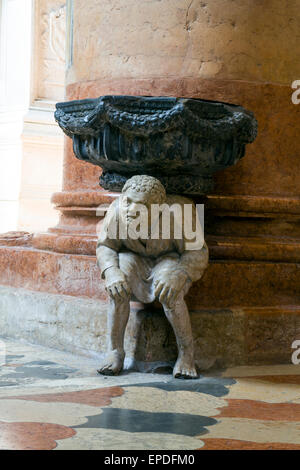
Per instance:
[[[155,297],[158,297],[161,303],[174,304],[188,280],[189,277],[184,271],[158,273],[154,280]]]

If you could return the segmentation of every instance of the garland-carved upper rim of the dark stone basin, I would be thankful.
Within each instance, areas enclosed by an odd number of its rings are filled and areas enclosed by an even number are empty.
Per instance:
[[[228,140],[235,135],[241,142],[250,143],[257,135],[251,111],[196,98],[106,95],[57,103],[55,119],[69,137],[96,135],[105,123],[141,136],[179,128],[201,133],[206,140]]]

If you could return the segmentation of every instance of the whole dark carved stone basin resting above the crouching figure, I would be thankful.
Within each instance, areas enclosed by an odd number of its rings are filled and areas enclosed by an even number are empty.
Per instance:
[[[257,135],[251,111],[195,98],[107,95],[58,103],[55,119],[112,191],[148,174],[168,192],[206,194],[213,173],[240,160]]]

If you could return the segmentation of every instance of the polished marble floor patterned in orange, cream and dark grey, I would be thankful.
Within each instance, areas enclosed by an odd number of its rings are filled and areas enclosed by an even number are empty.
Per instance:
[[[96,359],[1,339],[0,450],[300,449],[300,366],[102,377]]]

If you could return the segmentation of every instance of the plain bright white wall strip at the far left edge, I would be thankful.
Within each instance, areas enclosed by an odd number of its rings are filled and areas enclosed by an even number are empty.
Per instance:
[[[0,233],[18,228],[23,117],[29,105],[31,0],[1,0]]]

